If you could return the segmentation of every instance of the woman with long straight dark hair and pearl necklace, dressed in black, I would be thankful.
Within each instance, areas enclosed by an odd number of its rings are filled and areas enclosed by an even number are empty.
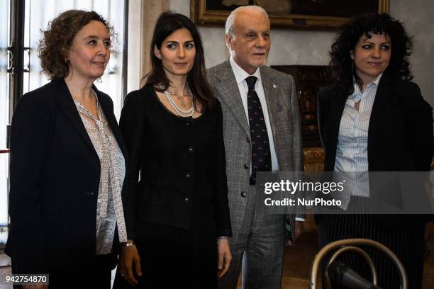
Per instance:
[[[221,106],[189,18],[162,13],[150,52],[146,84],[128,94],[121,114],[133,239],[118,275],[141,288],[216,288],[231,258]]]

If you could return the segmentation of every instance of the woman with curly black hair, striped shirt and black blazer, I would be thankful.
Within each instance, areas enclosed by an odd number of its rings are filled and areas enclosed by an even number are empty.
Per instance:
[[[374,239],[401,259],[410,288],[421,288],[427,218],[360,213],[372,197],[372,184],[367,174],[354,174],[430,171],[432,108],[410,81],[412,47],[403,24],[385,13],[356,16],[340,29],[330,52],[334,82],[318,94],[318,123],[324,171],[347,176],[350,202],[343,209],[355,213],[317,215],[316,221],[320,246],[338,239]],[[368,254],[379,271],[379,286],[399,288],[391,261]],[[370,278],[365,262],[353,255],[343,259]]]

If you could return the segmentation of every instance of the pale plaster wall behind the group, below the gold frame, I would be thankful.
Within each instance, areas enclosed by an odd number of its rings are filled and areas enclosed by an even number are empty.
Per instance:
[[[406,24],[414,35],[414,81],[421,86],[424,98],[434,106],[434,1],[390,0],[390,13]],[[190,16],[190,0],[171,0],[173,11]],[[204,41],[206,66],[211,67],[228,57],[224,43],[224,28],[200,27]],[[329,62],[328,51],[335,33],[289,29],[272,30],[272,48],[268,64],[318,64]]]

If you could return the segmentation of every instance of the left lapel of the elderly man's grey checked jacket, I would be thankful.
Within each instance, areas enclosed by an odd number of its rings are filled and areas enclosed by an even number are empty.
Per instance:
[[[250,135],[243,100],[241,99],[240,90],[238,89],[238,84],[233,74],[232,67],[230,67],[229,60],[222,70],[222,74],[217,76],[220,83],[216,85],[218,94],[221,96],[220,101],[226,103],[226,106],[228,106],[230,112],[238,120],[238,123],[240,123],[241,127],[245,130],[245,133]]]

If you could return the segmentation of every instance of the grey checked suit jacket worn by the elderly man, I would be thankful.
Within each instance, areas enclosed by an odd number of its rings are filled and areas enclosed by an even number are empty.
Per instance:
[[[289,74],[265,66],[260,67],[260,74],[279,171],[303,171],[299,105],[294,79]],[[250,167],[252,157],[249,124],[229,60],[207,69],[207,76],[223,108],[228,200],[233,238],[236,239],[246,205],[241,193],[249,191],[250,169],[245,169],[245,164]],[[294,228],[296,209],[288,209],[289,223]],[[297,217],[304,217],[303,212],[299,210]],[[294,239],[294,229],[291,231]]]

